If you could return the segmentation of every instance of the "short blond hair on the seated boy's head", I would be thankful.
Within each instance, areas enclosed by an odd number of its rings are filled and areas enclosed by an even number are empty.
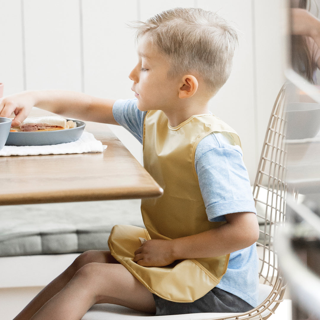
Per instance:
[[[133,27],[137,40],[147,36],[168,57],[170,77],[195,72],[212,92],[227,81],[238,38],[236,30],[215,12],[174,8]]]

